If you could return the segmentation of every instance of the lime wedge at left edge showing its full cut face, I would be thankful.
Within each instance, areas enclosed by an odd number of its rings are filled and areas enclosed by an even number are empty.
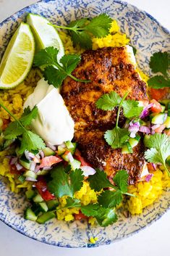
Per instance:
[[[14,88],[22,82],[33,64],[35,41],[30,26],[21,23],[1,59],[0,88]]]

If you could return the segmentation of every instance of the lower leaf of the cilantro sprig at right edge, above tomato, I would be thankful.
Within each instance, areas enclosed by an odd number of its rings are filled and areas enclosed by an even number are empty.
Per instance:
[[[162,75],[155,75],[148,80],[148,86],[155,89],[170,87],[170,80],[166,80]]]

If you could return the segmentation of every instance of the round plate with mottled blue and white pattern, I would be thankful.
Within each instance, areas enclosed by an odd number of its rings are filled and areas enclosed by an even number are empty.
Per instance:
[[[111,0],[43,0],[30,5],[15,13],[0,24],[0,59],[6,48],[9,38],[14,33],[21,20],[25,20],[28,12],[47,17],[51,22],[66,24],[70,20],[81,17],[94,17],[103,12],[119,22],[121,29],[131,39],[137,48],[137,62],[140,68],[148,73],[150,54],[158,50],[167,51],[170,45],[169,31],[163,28],[153,17],[146,12],[122,1]],[[89,226],[87,223],[65,223],[51,220],[45,225],[39,225],[23,218],[27,206],[25,197],[13,194],[3,181],[0,181],[0,220],[25,236],[53,244],[59,247],[91,247],[91,236],[98,237],[93,246],[110,244],[123,239],[154,220],[160,218],[170,205],[170,190],[164,191],[161,198],[143,214],[125,218],[120,215],[119,221],[113,226],[101,228]]]

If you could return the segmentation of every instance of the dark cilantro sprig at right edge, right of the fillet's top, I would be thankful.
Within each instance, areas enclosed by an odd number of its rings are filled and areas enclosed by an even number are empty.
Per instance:
[[[168,71],[170,69],[170,54],[168,52],[158,51],[150,57],[150,68],[153,73],[161,73],[155,75],[148,80],[148,86],[151,88],[170,87],[170,78]]]

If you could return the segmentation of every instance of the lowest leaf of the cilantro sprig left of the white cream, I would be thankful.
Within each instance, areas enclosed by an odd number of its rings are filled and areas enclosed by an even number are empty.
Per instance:
[[[43,149],[45,148],[45,144],[40,136],[33,133],[32,131],[26,131],[22,134],[21,139],[21,147],[19,153],[22,154],[25,152],[25,149],[28,151],[35,150],[35,149]]]

